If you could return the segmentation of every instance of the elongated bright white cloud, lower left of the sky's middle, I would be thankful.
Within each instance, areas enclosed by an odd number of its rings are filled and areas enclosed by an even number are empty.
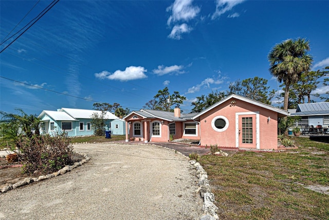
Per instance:
[[[141,66],[130,66],[126,67],[124,71],[116,70],[113,74],[106,70],[96,73],[95,77],[99,79],[108,79],[108,80],[120,80],[120,81],[129,81],[147,78],[145,72],[147,72],[144,67]]]

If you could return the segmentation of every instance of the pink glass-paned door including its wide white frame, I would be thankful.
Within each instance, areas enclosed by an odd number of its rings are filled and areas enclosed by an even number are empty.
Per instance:
[[[235,113],[235,146],[260,149],[259,112]]]

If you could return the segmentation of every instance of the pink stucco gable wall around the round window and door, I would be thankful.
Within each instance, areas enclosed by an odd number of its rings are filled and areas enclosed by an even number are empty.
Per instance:
[[[278,114],[241,100],[236,100],[236,103],[231,105],[231,101],[232,99],[200,116],[201,145],[217,144],[218,146],[236,147],[235,113],[259,112],[260,149],[277,149]],[[217,132],[212,128],[211,121],[216,116],[225,116],[228,119],[229,126],[226,131]],[[268,117],[271,120],[267,123]],[[255,148],[255,146],[252,146],[252,148]]]

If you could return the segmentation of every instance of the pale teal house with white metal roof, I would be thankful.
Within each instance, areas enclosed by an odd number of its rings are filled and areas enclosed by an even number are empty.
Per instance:
[[[44,110],[39,115],[44,126],[42,134],[67,132],[69,137],[93,135],[92,116],[101,111],[77,108],[60,108],[57,111]],[[110,112],[105,114],[105,130],[111,130],[113,135],[125,135],[125,122]]]

